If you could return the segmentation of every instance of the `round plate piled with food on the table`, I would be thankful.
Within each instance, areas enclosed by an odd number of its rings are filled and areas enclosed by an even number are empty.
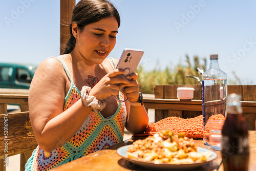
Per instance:
[[[174,135],[172,131],[161,131],[132,145],[122,146],[117,149],[117,154],[151,169],[190,169],[217,158],[215,152],[197,147],[192,138],[183,133]]]

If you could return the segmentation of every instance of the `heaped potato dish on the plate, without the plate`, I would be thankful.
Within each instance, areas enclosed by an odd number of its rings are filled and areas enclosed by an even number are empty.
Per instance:
[[[197,152],[194,140],[183,134],[174,135],[172,131],[162,131],[159,135],[138,140],[127,149],[127,157],[156,164],[188,164],[204,162],[210,158],[211,152]]]

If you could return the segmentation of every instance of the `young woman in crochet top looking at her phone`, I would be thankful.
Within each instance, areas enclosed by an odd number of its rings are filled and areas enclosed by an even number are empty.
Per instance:
[[[138,74],[121,77],[124,72],[114,67],[118,60],[106,58],[119,26],[119,14],[106,0],[81,0],[74,8],[65,52],[42,61],[31,83],[29,111],[38,147],[26,170],[54,168],[121,142],[124,126],[132,134],[145,130]],[[116,95],[129,100],[118,102]]]

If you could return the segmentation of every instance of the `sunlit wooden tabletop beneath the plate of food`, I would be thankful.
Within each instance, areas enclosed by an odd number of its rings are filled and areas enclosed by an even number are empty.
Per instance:
[[[69,163],[63,164],[57,168],[54,169],[54,171],[59,170],[138,170],[138,171],[144,171],[149,170],[148,168],[143,168],[140,166],[137,166],[133,162],[127,161],[125,159],[122,159],[118,156],[116,149],[124,146],[124,145],[130,145],[134,141],[138,139],[144,139],[146,137],[134,137],[128,140],[125,140],[123,142],[120,142],[116,145],[113,145],[109,148],[102,149],[101,151],[92,153],[90,155],[81,157],[77,160],[71,161]],[[209,146],[205,145],[203,140],[195,140],[198,147],[203,147],[210,149]],[[249,131],[249,143],[250,143],[250,160],[249,160],[249,170],[255,170],[256,168],[256,132],[255,131]],[[224,170],[222,165],[222,158],[221,158],[221,152],[220,151],[214,151],[218,157],[203,166],[197,167],[195,169],[189,169],[189,170]]]

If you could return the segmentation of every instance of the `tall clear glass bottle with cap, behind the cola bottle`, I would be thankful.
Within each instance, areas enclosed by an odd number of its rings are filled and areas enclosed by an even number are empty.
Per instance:
[[[202,74],[203,140],[209,145],[208,120],[212,115],[226,116],[227,74],[219,67],[218,54],[210,54],[209,69]]]

